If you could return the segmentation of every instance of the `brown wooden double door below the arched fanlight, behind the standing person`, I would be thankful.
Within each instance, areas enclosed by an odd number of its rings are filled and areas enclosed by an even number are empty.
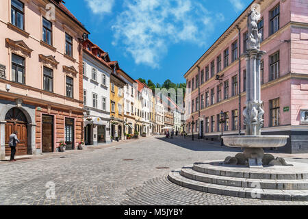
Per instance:
[[[28,154],[28,141],[27,141],[27,125],[25,123],[7,121],[5,124],[5,156],[10,156],[11,148],[8,146],[10,135],[18,131],[17,138],[20,143],[16,146],[16,155]]]

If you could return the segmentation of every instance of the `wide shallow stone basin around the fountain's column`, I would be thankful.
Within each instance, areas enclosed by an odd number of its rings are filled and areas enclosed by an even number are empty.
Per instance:
[[[222,136],[224,145],[233,148],[278,148],[287,144],[290,136]]]

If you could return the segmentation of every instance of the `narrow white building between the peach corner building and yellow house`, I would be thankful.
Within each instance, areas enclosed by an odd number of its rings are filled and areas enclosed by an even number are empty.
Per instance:
[[[84,119],[85,144],[109,144],[112,68],[101,61],[101,55],[93,54],[89,49],[84,48],[83,53],[84,109],[87,110]]]

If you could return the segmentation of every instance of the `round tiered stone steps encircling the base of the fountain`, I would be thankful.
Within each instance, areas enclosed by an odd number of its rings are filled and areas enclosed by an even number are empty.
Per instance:
[[[287,169],[274,166],[257,170],[214,164],[216,162],[184,166],[171,171],[168,179],[185,188],[212,194],[276,201],[308,201],[307,164],[292,163],[294,167]],[[298,173],[300,169],[305,173]]]

